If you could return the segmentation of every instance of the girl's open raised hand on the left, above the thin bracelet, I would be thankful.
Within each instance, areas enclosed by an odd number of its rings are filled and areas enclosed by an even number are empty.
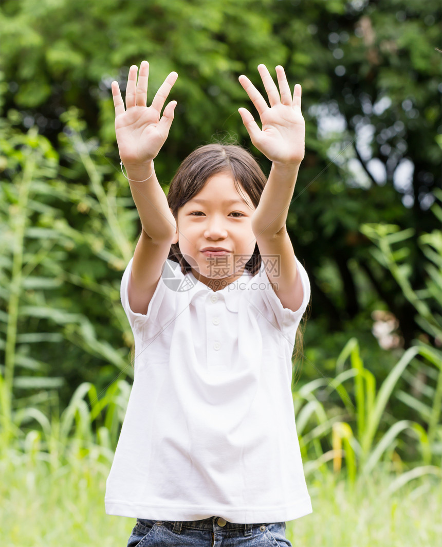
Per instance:
[[[118,82],[112,82],[115,107],[115,133],[121,161],[127,169],[137,169],[152,161],[165,143],[173,121],[176,101],[167,104],[160,118],[162,107],[175,84],[178,74],[171,72],[156,92],[150,107],[147,107],[147,82],[149,63],[143,61],[139,67],[129,69],[126,88],[126,109]]]

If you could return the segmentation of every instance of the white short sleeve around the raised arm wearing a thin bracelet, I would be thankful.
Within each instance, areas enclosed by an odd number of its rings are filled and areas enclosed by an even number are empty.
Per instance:
[[[155,292],[149,302],[147,313],[134,312],[129,304],[129,280],[132,271],[132,260],[124,271],[121,279],[120,296],[133,335],[141,340],[149,340],[159,333],[175,316],[175,293],[166,287],[160,277]]]

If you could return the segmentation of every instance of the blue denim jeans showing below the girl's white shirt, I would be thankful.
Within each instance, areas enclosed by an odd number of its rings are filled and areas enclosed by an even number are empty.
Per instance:
[[[214,516],[172,522],[137,519],[127,547],[292,547],[286,523],[235,524]]]

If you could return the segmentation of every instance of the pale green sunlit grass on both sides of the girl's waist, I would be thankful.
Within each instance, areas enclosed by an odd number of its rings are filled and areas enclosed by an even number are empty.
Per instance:
[[[0,545],[124,547],[135,520],[104,513],[109,465],[90,456],[56,470],[30,456],[0,461]],[[401,477],[403,475],[397,475]],[[307,478],[313,514],[288,523],[294,547],[425,547],[442,536],[440,480],[424,476],[388,494],[396,475],[351,484],[331,471]]]

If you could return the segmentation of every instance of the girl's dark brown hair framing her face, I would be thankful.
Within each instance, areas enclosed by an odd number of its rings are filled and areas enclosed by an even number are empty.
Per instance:
[[[248,201],[244,195],[246,192],[253,205],[258,207],[267,179],[252,154],[237,144],[206,144],[184,159],[170,183],[167,202],[173,216],[177,218],[178,209],[191,200],[210,177],[218,173],[231,174],[239,193]],[[179,251],[178,243],[172,244],[168,258],[181,265],[183,274],[190,271],[190,265]],[[245,267],[255,275],[260,265],[261,255],[258,245],[255,245],[253,255]]]

